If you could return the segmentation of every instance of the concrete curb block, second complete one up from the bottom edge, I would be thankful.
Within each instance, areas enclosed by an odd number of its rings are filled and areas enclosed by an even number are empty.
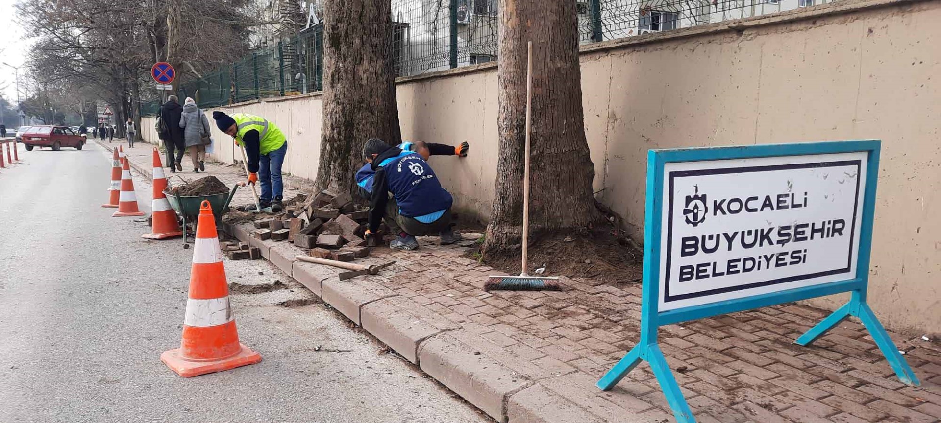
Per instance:
[[[418,346],[424,339],[449,327],[460,327],[456,324],[445,328],[436,327],[423,321],[411,310],[393,304],[389,299],[363,305],[361,316],[364,329],[413,364],[418,364]]]

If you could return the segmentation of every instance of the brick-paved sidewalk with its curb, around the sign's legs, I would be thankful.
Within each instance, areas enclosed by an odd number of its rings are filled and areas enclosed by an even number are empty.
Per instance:
[[[146,156],[150,164],[147,147],[132,163]],[[232,180],[241,173],[213,171]],[[420,239],[412,252],[373,248],[359,261],[396,264],[340,282],[333,268],[296,261],[307,252],[291,243],[249,238],[250,224],[228,229],[498,421],[675,421],[646,363],[610,392],[595,387],[638,341],[639,284],[566,279],[564,291],[486,292],[487,275],[499,273],[462,257],[469,248],[434,239]],[[664,326],[661,348],[702,423],[941,419],[941,345],[890,333],[922,382],[908,387],[858,321],[842,322],[815,346],[793,343],[828,314],[778,305]]]

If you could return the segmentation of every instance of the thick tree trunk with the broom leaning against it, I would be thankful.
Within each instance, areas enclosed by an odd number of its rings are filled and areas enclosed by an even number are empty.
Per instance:
[[[533,41],[530,233],[584,233],[598,212],[585,140],[576,0],[500,2],[500,160],[486,255],[520,244],[526,43]]]

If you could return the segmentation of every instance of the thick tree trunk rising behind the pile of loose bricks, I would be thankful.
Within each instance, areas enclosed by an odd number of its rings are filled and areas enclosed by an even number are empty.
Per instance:
[[[401,142],[391,58],[391,3],[324,2],[323,130],[316,188],[353,193],[369,138]]]

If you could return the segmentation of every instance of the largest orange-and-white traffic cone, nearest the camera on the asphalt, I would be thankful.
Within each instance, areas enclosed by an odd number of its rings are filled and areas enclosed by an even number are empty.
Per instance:
[[[189,299],[183,318],[180,348],[160,354],[169,368],[184,378],[252,365],[262,361],[238,341],[229,304],[226,269],[222,265],[215,218],[209,201],[202,201],[189,276]]]

